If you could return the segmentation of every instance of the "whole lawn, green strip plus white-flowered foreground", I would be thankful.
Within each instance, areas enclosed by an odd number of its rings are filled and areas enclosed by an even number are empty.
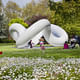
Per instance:
[[[43,53],[1,43],[0,51],[0,80],[80,80],[80,48],[51,47]]]

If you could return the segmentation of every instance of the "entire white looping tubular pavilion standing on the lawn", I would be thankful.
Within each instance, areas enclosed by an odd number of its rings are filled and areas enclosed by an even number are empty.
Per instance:
[[[41,19],[32,24],[28,29],[18,23],[9,27],[11,37],[16,41],[17,48],[23,48],[32,40],[34,45],[44,36],[46,41],[53,46],[63,46],[68,41],[67,33],[57,25],[50,24],[47,19]]]

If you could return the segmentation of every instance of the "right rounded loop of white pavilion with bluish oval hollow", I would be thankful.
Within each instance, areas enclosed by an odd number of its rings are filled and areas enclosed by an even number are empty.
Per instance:
[[[44,30],[44,37],[53,46],[63,46],[65,41],[68,41],[67,33],[54,24]]]

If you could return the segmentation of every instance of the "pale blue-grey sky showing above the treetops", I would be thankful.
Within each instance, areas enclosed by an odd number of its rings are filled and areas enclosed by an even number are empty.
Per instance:
[[[32,0],[2,0],[4,6],[6,5],[6,3],[8,1],[16,2],[22,8],[22,7],[24,7],[26,5],[26,3],[29,3]],[[39,0],[35,0],[35,1],[39,1]],[[51,1],[57,2],[57,1],[62,1],[62,0],[51,0]]]

